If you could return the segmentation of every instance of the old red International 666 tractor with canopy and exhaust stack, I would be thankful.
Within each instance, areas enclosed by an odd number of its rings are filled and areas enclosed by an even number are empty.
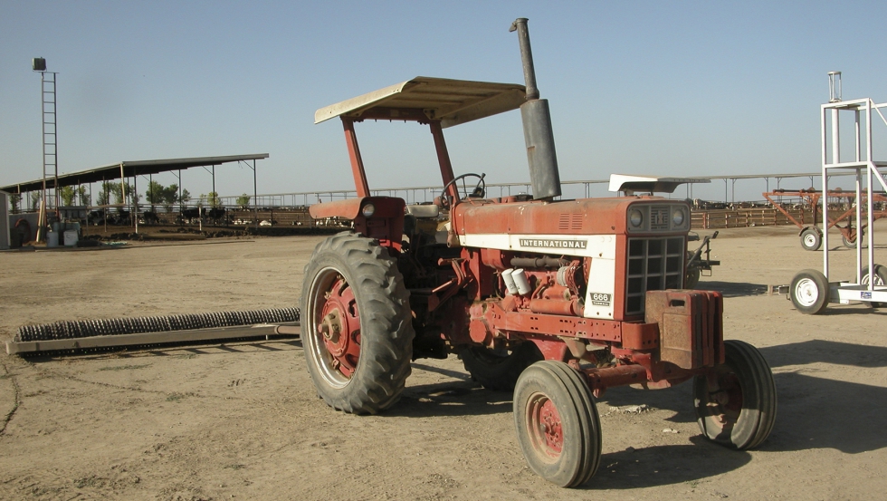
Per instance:
[[[526,87],[416,77],[317,111],[316,122],[342,120],[358,192],[310,207],[315,218],[353,221],[305,268],[302,340],[320,397],[376,413],[400,397],[410,361],[457,353],[484,387],[514,391],[524,457],[562,487],[595,474],[595,399],[613,386],[692,380],[702,434],[758,446],[776,417],[773,376],[757,349],[723,340],[719,293],[682,289],[690,207],[557,199],[527,20],[511,28]],[[453,175],[443,130],[519,108],[533,194],[488,198],[483,174]],[[429,126],[443,177],[434,204],[371,196],[354,130],[363,120]]]

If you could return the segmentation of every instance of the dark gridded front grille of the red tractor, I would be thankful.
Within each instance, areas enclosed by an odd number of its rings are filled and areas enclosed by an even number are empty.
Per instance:
[[[647,291],[680,289],[687,244],[683,236],[629,238],[625,314],[644,313]]]

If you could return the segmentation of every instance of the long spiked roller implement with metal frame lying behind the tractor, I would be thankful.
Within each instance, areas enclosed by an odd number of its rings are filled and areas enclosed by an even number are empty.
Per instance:
[[[61,321],[23,325],[14,340],[6,342],[6,352],[56,352],[299,333],[298,308]]]

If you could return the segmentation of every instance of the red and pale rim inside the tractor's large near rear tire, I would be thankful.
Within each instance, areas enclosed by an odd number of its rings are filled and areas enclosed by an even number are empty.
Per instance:
[[[320,376],[342,388],[351,381],[360,359],[360,313],[345,276],[329,267],[311,284],[310,350]]]

